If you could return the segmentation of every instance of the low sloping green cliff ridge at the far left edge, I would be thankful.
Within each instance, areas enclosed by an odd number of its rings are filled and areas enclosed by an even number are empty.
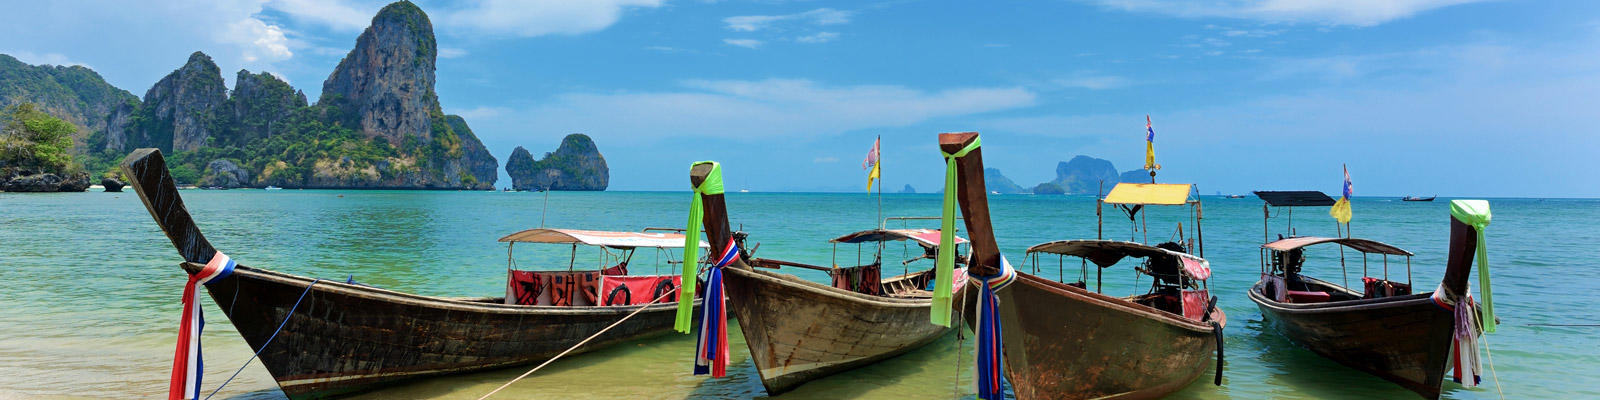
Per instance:
[[[29,66],[0,54],[0,109],[21,102],[32,102],[38,110],[75,125],[74,147],[85,149],[104,147],[110,131],[120,136],[139,98],[106,83],[88,67]],[[90,146],[91,138],[99,138],[93,139],[94,146]]]

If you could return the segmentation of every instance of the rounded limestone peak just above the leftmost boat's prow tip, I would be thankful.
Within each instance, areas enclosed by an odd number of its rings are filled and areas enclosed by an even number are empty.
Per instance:
[[[211,56],[195,51],[189,62],[173,70],[144,93],[138,123],[125,139],[134,147],[165,152],[195,150],[211,138],[210,117],[227,101],[222,72]]]

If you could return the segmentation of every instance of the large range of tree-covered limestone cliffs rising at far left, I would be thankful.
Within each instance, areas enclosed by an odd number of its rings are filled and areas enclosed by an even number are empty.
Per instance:
[[[32,104],[72,125],[70,165],[85,179],[158,147],[184,184],[493,189],[499,162],[434,93],[437,56],[427,14],[397,2],[371,19],[315,104],[266,72],[240,70],[230,91],[195,51],[142,99],[88,67],[0,54],[0,107]]]

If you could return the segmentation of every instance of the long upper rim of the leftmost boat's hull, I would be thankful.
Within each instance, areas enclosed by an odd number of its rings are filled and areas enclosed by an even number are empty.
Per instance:
[[[203,264],[182,262],[179,267],[186,270],[198,270]],[[291,286],[306,288],[310,286],[314,278],[275,272],[267,269],[256,269],[246,266],[234,267],[234,278],[259,278],[275,283],[285,283]],[[334,294],[365,298],[373,301],[384,301],[405,306],[419,306],[432,309],[450,309],[450,310],[467,310],[467,312],[485,312],[485,314],[538,314],[538,315],[621,315],[627,312],[638,310],[640,307],[648,309],[677,309],[677,302],[656,302],[646,306],[518,306],[518,304],[501,304],[501,302],[480,302],[469,301],[474,298],[443,298],[443,296],[424,296],[386,288],[350,285],[336,280],[317,280],[317,291],[328,291]],[[477,298],[482,299],[482,298]],[[490,298],[493,299],[493,298]],[[696,304],[701,299],[694,299]]]

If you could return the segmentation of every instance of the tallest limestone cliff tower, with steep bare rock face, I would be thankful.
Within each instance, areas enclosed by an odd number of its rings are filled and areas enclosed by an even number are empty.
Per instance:
[[[318,104],[344,110],[366,138],[400,144],[406,134],[432,139],[434,24],[410,2],[384,6],[355,40],[350,54],[322,83]]]

